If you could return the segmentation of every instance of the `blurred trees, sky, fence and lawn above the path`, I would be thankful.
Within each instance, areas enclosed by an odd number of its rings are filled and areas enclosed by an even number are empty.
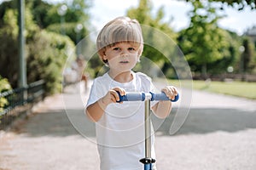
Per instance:
[[[100,75],[107,68],[102,69],[104,65],[96,53],[86,56],[94,42],[84,37],[108,20],[127,15],[165,33],[177,44],[189,63],[194,88],[256,99],[256,9],[252,1],[168,1],[166,6],[148,0],[123,5],[120,1],[26,1],[21,3],[25,6],[21,36],[18,2],[23,1],[0,3],[1,93],[40,80],[44,80],[45,95],[61,93],[63,85],[81,79],[82,74],[73,80],[65,79],[76,59],[82,59],[82,65],[86,65],[83,70],[86,77]],[[172,3],[179,4],[181,9],[170,13]],[[118,6],[116,12],[115,6]],[[238,13],[247,14],[241,23],[235,15]],[[233,28],[230,20],[236,20]],[[24,38],[21,45],[19,37]],[[152,36],[154,41],[157,37]],[[24,49],[20,52],[21,48]],[[25,65],[20,65],[20,54],[24,54]],[[180,77],[166,56],[147,45],[143,56],[158,65],[165,77],[178,86]],[[145,65],[139,64],[137,68]],[[160,75],[156,73],[154,77]],[[1,110],[8,105],[8,99],[2,97]]]

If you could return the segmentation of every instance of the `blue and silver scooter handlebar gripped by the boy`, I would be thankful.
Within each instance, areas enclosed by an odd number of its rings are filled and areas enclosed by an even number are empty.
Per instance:
[[[118,92],[119,94],[119,92]],[[154,94],[152,92],[144,93],[144,92],[128,92],[125,95],[121,96],[119,94],[119,101],[144,101],[145,99],[150,99],[151,101],[159,101],[159,100],[171,100],[172,102],[176,102],[179,99],[179,95],[175,96],[175,99],[169,99],[165,93]]]

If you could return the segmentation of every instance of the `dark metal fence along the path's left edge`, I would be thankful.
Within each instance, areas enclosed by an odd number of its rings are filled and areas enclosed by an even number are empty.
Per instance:
[[[32,82],[25,88],[15,88],[0,94],[7,104],[0,108],[0,129],[12,122],[20,112],[26,111],[27,104],[44,99],[44,80]]]

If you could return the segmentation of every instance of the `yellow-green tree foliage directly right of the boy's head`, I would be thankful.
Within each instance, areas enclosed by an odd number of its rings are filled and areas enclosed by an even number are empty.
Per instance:
[[[165,13],[164,8],[161,7],[158,9],[155,15],[151,14],[152,11],[152,4],[148,0],[140,0],[140,3],[137,8],[130,8],[127,11],[127,15],[133,19],[137,19],[139,23],[143,27],[143,37],[144,37],[144,50],[143,56],[147,57],[154,64],[157,64],[162,71],[168,71],[169,69],[172,70],[172,66],[168,59],[172,56],[173,49],[170,48],[171,44],[165,42],[165,40],[161,39],[160,32],[164,32],[168,39],[172,39],[173,42],[176,41],[177,33],[172,31],[170,27],[170,21],[165,22],[163,21]],[[159,48],[162,51],[158,51]],[[167,59],[168,58],[168,59]],[[163,66],[168,63],[168,65],[163,68]],[[147,68],[148,63],[141,63],[138,67]],[[167,69],[168,68],[168,69]],[[145,70],[145,69],[143,69]],[[170,71],[168,71],[170,72]],[[174,73],[174,71],[171,71]],[[170,74],[172,75],[172,74]],[[170,76],[170,77],[173,77]]]

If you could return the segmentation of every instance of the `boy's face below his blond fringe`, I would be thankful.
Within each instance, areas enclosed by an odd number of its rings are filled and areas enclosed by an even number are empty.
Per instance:
[[[103,59],[108,59],[109,68],[116,71],[131,71],[139,59],[139,49],[129,42],[118,42],[107,47]]]

